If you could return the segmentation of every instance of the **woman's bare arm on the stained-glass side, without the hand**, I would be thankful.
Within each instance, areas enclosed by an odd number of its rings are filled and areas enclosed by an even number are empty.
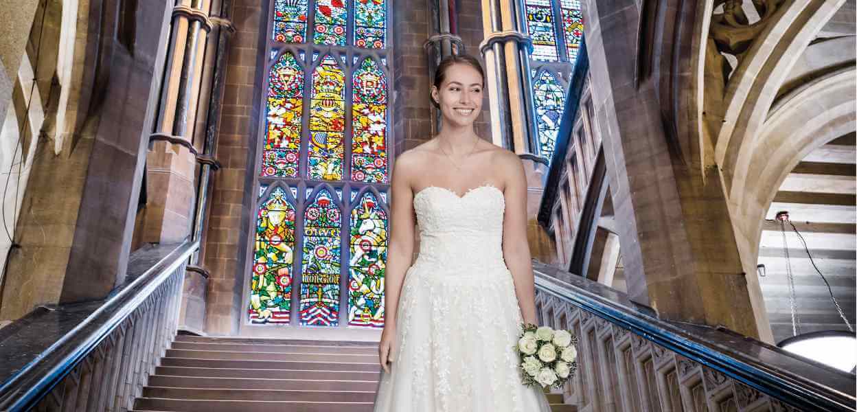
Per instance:
[[[390,183],[390,225],[387,232],[387,271],[384,279],[384,324],[396,325],[399,294],[405,282],[405,272],[414,254],[414,195],[411,191],[408,152],[399,154],[393,164]]]

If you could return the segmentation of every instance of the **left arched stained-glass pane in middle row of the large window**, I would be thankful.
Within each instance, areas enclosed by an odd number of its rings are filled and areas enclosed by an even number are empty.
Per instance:
[[[267,133],[261,176],[297,177],[303,116],[303,69],[286,52],[268,73]]]

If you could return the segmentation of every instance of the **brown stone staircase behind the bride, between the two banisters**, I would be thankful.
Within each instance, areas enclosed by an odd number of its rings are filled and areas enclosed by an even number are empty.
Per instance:
[[[179,335],[134,410],[371,411],[377,360],[377,343]],[[577,410],[548,399],[554,412]]]

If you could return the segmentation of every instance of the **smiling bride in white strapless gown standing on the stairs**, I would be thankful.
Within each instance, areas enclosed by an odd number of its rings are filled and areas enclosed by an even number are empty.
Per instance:
[[[536,324],[527,183],[515,153],[476,135],[484,83],[474,57],[444,58],[440,133],[393,166],[375,412],[550,410],[513,349],[521,323]]]

